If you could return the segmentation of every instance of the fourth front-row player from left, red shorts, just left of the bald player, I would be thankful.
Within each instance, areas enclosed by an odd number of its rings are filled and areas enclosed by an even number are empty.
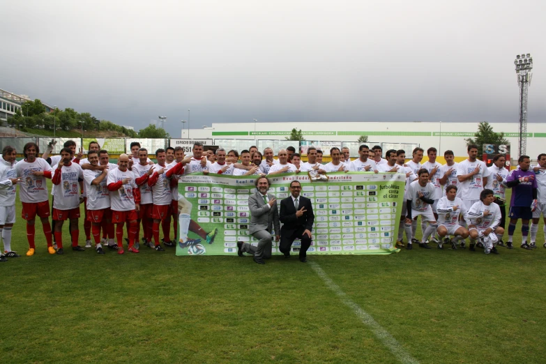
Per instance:
[[[89,151],[87,160],[93,166],[98,165],[98,153]],[[84,170],[84,185],[87,192],[86,199],[86,220],[91,222],[93,230],[93,239],[95,240],[95,250],[98,254],[104,254],[103,245],[100,243],[100,227],[104,222],[107,225],[112,225],[112,210],[110,209],[110,195],[106,185],[106,176],[108,169],[102,171],[93,171],[91,169]]]

